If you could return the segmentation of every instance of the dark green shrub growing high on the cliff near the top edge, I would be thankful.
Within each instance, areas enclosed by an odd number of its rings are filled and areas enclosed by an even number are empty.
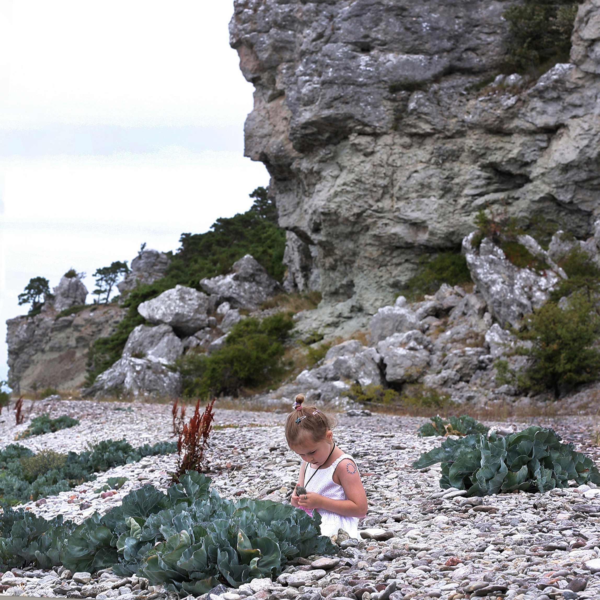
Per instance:
[[[503,13],[511,41],[504,70],[539,77],[557,62],[569,62],[577,0],[525,0]]]

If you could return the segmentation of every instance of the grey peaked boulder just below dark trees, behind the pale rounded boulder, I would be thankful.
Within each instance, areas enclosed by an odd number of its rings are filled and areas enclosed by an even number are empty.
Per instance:
[[[218,302],[229,302],[232,308],[256,310],[269,298],[283,292],[275,281],[250,254],[233,263],[233,272],[204,278],[200,285]]]

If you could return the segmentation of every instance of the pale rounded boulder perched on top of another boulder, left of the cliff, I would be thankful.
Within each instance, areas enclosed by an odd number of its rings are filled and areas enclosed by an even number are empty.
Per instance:
[[[208,325],[208,296],[193,287],[175,286],[142,302],[137,311],[151,323],[164,323],[182,335],[191,335]]]

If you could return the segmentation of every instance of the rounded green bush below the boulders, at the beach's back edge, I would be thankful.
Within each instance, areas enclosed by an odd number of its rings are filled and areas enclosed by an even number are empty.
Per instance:
[[[283,342],[291,329],[293,320],[284,313],[236,323],[223,347],[210,356],[188,353],[176,362],[184,395],[235,395],[241,388],[269,383],[281,371]]]

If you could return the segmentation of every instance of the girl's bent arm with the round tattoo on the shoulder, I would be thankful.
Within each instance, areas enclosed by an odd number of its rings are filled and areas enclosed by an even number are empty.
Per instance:
[[[305,508],[323,508],[344,517],[364,517],[367,514],[367,494],[362,487],[361,476],[352,460],[344,458],[335,469],[335,474],[340,478],[341,487],[346,492],[347,500],[333,500],[314,492],[308,492],[307,499],[304,495],[298,498],[298,506]],[[296,505],[295,505],[296,506]]]

